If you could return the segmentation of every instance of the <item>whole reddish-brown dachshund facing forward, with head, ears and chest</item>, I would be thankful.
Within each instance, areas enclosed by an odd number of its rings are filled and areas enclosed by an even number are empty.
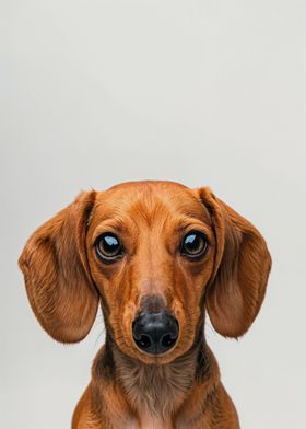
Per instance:
[[[204,318],[239,337],[254,322],[271,258],[264,240],[209,188],[139,182],[82,193],[21,257],[42,326],[75,343],[98,304],[106,341],[73,429],[237,429],[204,338]]]

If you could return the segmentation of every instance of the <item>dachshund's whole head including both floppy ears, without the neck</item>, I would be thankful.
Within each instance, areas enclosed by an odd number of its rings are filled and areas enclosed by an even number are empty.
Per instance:
[[[169,182],[81,194],[20,258],[32,308],[54,338],[82,339],[101,302],[108,335],[145,363],[185,353],[205,309],[220,334],[244,334],[270,265],[248,221],[208,188]]]

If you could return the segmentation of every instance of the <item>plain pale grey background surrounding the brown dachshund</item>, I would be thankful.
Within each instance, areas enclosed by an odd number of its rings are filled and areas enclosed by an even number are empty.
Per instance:
[[[239,341],[207,327],[243,429],[305,419],[304,0],[2,0],[0,427],[66,429],[103,344],[36,322],[16,260],[81,189],[210,185],[273,269]]]

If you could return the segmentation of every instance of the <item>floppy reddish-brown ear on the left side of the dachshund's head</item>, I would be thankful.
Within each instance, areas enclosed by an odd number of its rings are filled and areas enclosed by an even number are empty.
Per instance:
[[[62,343],[83,339],[97,312],[98,294],[91,281],[85,250],[94,200],[94,190],[80,194],[34,232],[19,259],[37,320]]]

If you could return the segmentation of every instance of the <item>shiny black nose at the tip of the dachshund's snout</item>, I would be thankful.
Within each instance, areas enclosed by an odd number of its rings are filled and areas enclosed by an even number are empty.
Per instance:
[[[139,314],[132,325],[137,346],[151,355],[163,353],[175,345],[178,337],[178,322],[166,311]]]

